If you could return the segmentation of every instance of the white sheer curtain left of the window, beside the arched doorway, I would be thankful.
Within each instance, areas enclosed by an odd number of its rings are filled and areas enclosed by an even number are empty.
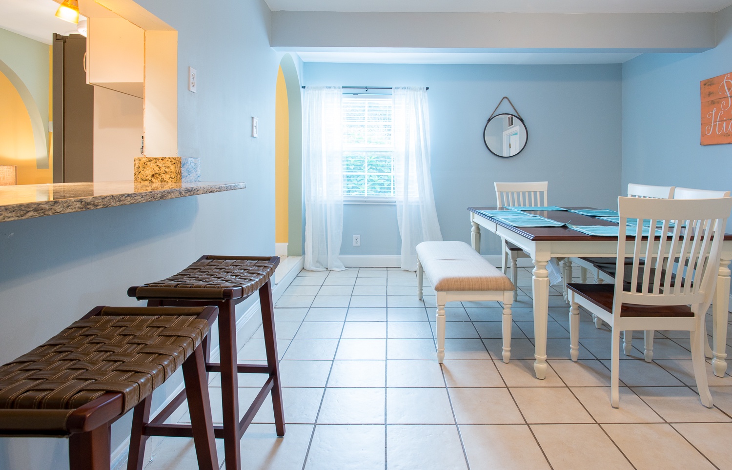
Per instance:
[[[343,238],[343,151],[340,86],[308,86],[302,115],[305,269],[346,269]]]

